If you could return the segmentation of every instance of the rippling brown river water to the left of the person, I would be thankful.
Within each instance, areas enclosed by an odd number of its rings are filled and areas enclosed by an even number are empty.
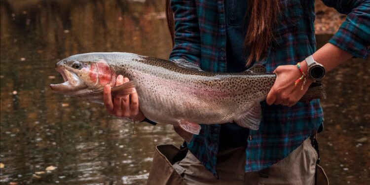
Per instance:
[[[166,58],[163,11],[159,0],[1,1],[1,183],[146,181],[153,147],[181,142],[170,128],[134,128],[101,105],[54,94],[48,84],[62,81],[56,61],[77,53]],[[51,165],[57,169],[36,174]]]

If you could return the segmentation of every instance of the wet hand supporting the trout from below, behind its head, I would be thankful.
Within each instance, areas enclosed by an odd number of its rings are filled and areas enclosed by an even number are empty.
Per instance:
[[[122,85],[128,81],[128,78],[118,75],[115,86]],[[132,121],[143,121],[145,119],[143,112],[139,109],[139,98],[136,89],[134,89],[130,95],[124,97],[114,96],[112,99],[111,85],[107,84],[104,86],[103,100],[107,111],[112,115],[125,117]]]

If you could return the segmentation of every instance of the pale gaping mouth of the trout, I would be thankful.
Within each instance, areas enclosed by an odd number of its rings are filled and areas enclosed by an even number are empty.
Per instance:
[[[64,83],[50,84],[50,88],[53,91],[70,94],[87,87],[74,72],[70,72],[65,68],[56,68],[56,71],[62,74]]]

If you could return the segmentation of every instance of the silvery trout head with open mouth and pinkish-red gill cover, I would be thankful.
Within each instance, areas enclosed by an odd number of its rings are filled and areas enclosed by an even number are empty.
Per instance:
[[[114,71],[104,59],[72,56],[59,61],[55,70],[64,83],[50,84],[53,91],[92,101],[102,98],[104,85],[115,83]]]

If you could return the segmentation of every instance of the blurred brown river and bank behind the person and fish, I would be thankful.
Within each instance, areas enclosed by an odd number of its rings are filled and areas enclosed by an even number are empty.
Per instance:
[[[131,123],[103,105],[55,94],[57,61],[86,52],[167,59],[165,0],[0,0],[0,184],[145,184],[154,146],[182,139],[168,125]],[[318,47],[345,19],[316,2]],[[370,182],[370,64],[327,75],[319,135],[331,184]]]

